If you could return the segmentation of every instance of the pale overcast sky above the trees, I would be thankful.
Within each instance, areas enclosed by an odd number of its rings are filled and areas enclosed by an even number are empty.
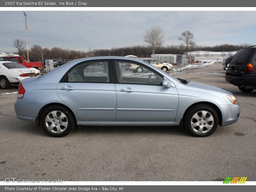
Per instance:
[[[197,45],[256,44],[256,12],[243,11],[26,11],[28,46],[88,49],[146,45],[151,25],[163,28],[164,45],[179,45],[189,30]],[[13,40],[26,40],[21,11],[0,11],[0,52],[16,52]]]

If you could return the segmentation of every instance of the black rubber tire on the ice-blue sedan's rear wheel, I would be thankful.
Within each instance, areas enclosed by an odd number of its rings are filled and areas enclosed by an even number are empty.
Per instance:
[[[58,122],[55,125],[57,125],[59,127],[62,126],[62,128],[60,127],[60,129],[59,129],[61,131],[59,133],[57,132],[58,131],[57,127],[55,127],[55,129],[53,128],[52,131],[50,131],[50,127],[47,128],[47,125],[46,125],[46,124],[48,124],[48,126],[49,125],[51,126],[51,122],[46,123],[46,117],[48,116],[49,113],[52,113],[53,111],[57,111],[57,113],[56,113],[57,117],[58,117],[58,111],[61,112],[60,113],[61,115],[64,114],[66,116],[66,117],[64,117],[64,118],[62,118],[60,120],[58,118],[57,118],[58,120],[56,120]],[[65,120],[65,118],[66,118],[66,120]],[[54,120],[55,118],[53,117],[52,119]],[[55,123],[56,123],[56,121],[55,121]],[[60,125],[59,125],[59,123],[60,123]],[[67,125],[63,126],[63,125],[61,125],[61,123],[65,124],[65,125],[67,124]],[[46,108],[43,111],[42,116],[41,116],[41,125],[42,125],[44,131],[48,135],[50,135],[52,137],[64,137],[64,136],[66,136],[68,133],[70,133],[74,129],[75,118],[74,118],[72,112],[69,109],[67,109],[65,107],[62,107],[62,106],[53,105],[53,106],[50,106],[50,107]]]

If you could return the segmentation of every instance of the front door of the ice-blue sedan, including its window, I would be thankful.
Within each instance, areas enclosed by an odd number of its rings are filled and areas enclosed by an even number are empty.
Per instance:
[[[126,64],[143,72],[125,70]],[[117,122],[174,122],[179,103],[176,87],[163,87],[164,77],[141,63],[115,60],[113,68]]]

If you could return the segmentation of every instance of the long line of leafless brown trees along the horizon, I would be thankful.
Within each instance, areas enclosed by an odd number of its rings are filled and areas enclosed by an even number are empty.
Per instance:
[[[23,43],[23,45],[22,45]],[[25,42],[19,39],[14,40],[13,46],[17,48],[15,54],[25,57],[26,49]],[[243,47],[252,46],[251,44],[222,44],[215,46],[190,46],[188,51],[214,51],[214,52],[231,52],[237,51]],[[155,54],[183,54],[186,52],[186,46],[182,45],[168,45],[155,47]],[[89,49],[88,51],[76,51],[70,49],[64,49],[60,47],[42,48],[40,45],[33,45],[29,49],[29,58],[34,60],[40,60],[42,58],[49,59],[80,59],[85,57],[97,57],[97,56],[126,56],[135,55],[140,58],[150,58],[152,54],[152,47],[145,45],[127,46],[127,47],[113,47],[111,49]]]

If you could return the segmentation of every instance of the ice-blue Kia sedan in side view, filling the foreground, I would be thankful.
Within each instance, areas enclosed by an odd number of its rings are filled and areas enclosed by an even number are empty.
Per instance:
[[[144,72],[125,70],[127,64]],[[240,106],[226,90],[176,79],[141,60],[93,57],[22,80],[15,112],[53,137],[75,125],[182,125],[204,137],[235,123]]]

